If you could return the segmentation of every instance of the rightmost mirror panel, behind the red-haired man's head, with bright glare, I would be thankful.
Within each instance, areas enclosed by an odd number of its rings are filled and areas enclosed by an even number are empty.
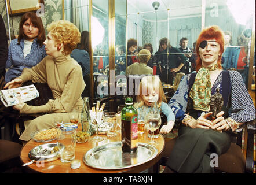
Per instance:
[[[242,2],[206,1],[206,26],[218,25],[225,32],[225,51],[222,67],[236,70],[248,89],[248,71],[250,65],[251,27],[255,1]],[[237,12],[243,12],[239,14]]]

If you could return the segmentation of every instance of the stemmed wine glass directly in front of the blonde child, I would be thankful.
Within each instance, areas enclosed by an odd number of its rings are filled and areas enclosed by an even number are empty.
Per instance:
[[[153,132],[158,129],[161,125],[160,114],[149,113],[145,117],[145,122],[148,125],[148,129],[151,131],[151,141],[149,143],[156,143],[154,140]]]

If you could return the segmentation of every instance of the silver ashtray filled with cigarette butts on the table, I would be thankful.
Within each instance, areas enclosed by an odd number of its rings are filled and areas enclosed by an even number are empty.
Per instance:
[[[60,151],[55,151],[52,153],[55,146],[57,146],[57,143],[46,143],[36,146],[30,150],[28,153],[28,158],[30,158],[30,160],[40,160],[44,162],[57,160],[60,158]]]

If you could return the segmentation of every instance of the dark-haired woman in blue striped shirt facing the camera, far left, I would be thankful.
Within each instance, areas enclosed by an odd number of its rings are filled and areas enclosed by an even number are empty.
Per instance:
[[[5,65],[5,68],[9,68],[5,75],[6,83],[20,76],[24,68],[32,68],[46,56],[43,45],[45,40],[41,18],[34,12],[25,13],[21,17],[19,36],[12,40],[9,46]]]

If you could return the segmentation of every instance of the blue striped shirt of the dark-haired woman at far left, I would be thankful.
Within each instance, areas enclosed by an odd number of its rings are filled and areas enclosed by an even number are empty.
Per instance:
[[[9,46],[8,59],[6,61],[5,68],[9,68],[5,75],[5,82],[10,82],[13,78],[20,76],[23,68],[32,68],[38,64],[45,56],[45,46],[40,47],[37,39],[34,39],[31,51],[24,58],[24,39],[18,44],[18,39],[12,40]]]

